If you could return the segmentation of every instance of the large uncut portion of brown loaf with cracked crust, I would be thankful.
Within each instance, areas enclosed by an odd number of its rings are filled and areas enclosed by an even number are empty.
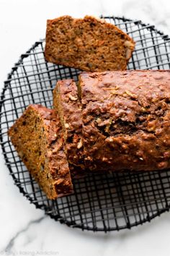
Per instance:
[[[170,70],[84,72],[79,86],[86,166],[170,167]]]

